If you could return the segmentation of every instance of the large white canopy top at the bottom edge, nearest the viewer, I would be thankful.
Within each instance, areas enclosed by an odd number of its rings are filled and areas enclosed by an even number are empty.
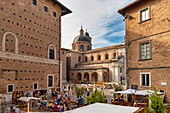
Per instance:
[[[133,113],[138,109],[139,107],[95,103],[81,108],[77,108],[75,110],[70,111],[69,113]]]

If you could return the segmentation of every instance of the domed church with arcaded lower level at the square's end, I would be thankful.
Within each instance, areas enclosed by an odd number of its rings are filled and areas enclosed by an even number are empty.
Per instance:
[[[126,84],[124,44],[91,49],[91,39],[89,33],[83,33],[81,28],[80,35],[73,41],[72,50],[61,49],[63,81]],[[85,45],[83,49],[81,45]]]

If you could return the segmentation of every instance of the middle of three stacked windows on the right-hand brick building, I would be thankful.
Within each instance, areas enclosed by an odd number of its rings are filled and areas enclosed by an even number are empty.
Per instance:
[[[151,51],[150,51],[150,42],[140,44],[140,59],[150,59]]]

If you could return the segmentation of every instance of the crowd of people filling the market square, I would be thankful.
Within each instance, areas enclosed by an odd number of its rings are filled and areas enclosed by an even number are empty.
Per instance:
[[[90,92],[93,90],[92,87],[82,87],[80,88],[83,89],[83,94],[82,96],[77,96],[76,92],[71,89],[69,86],[67,89],[66,87],[63,87],[62,91],[56,90],[52,91],[49,93],[48,91],[34,91],[32,96],[40,98],[41,100],[37,102],[33,102],[31,104],[31,108],[34,106],[34,110],[40,111],[40,112],[64,112],[64,111],[69,111],[78,107],[82,107],[87,105],[87,99],[90,95]],[[91,89],[92,88],[92,89]],[[94,87],[95,91],[97,90],[97,87]],[[106,89],[103,87],[102,89]],[[17,98],[24,96],[23,93],[18,96],[18,93],[13,94],[14,98],[12,99],[12,102],[14,104],[17,103]],[[26,97],[31,96],[29,93],[25,95]],[[52,97],[52,98],[51,98]],[[73,97],[71,99],[71,97]],[[77,97],[77,98],[76,98]],[[91,100],[89,100],[90,102]],[[89,104],[89,103],[88,103]],[[13,113],[17,113],[16,110],[13,111]]]

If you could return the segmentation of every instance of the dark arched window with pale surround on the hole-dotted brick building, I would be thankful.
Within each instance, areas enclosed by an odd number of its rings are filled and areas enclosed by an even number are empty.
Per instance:
[[[56,48],[54,45],[50,44],[48,47],[48,58],[56,59]]]

